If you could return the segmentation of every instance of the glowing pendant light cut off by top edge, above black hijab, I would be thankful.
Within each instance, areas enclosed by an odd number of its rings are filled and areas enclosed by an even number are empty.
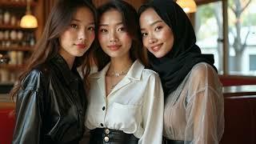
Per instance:
[[[194,0],[177,0],[178,6],[181,6],[185,13],[194,13],[197,10],[197,5]]]

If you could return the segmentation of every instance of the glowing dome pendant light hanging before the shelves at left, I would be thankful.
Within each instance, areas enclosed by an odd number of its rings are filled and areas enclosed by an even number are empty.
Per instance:
[[[31,14],[30,10],[30,1],[26,0],[26,14],[22,17],[20,26],[22,28],[37,28],[38,27],[38,20]]]

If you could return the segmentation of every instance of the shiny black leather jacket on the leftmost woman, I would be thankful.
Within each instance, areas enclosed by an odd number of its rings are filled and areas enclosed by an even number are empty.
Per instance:
[[[13,143],[78,143],[84,133],[86,94],[78,71],[57,55],[22,81]]]

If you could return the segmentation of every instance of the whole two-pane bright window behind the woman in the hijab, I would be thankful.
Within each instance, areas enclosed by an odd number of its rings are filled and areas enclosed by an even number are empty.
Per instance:
[[[256,0],[228,0],[228,19],[224,20],[223,1],[198,6],[194,21],[197,44],[203,54],[214,54],[218,74],[223,72],[226,55],[228,74],[256,75]],[[223,54],[223,22],[228,22],[229,54]]]

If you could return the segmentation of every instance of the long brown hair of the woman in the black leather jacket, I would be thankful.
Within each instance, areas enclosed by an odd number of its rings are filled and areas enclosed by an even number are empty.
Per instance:
[[[50,58],[53,58],[56,54],[58,54],[60,47],[58,38],[60,37],[60,34],[66,30],[66,27],[70,25],[74,13],[80,7],[89,8],[94,14],[94,22],[97,23],[96,9],[91,2],[86,0],[59,0],[51,10],[42,33],[42,37],[34,47],[34,53],[31,55],[25,71],[23,71],[18,78],[18,84],[14,86],[13,90],[10,91],[10,98],[12,100],[14,100],[15,95],[22,86],[22,79],[25,78],[34,67],[42,64],[43,62],[49,61]],[[94,46],[94,43],[92,46]],[[84,76],[86,87],[89,86],[87,77],[90,74],[90,55],[91,48],[87,50],[82,57],[77,57],[74,60],[74,67],[82,66],[82,74]],[[85,67],[86,71],[84,71]]]

